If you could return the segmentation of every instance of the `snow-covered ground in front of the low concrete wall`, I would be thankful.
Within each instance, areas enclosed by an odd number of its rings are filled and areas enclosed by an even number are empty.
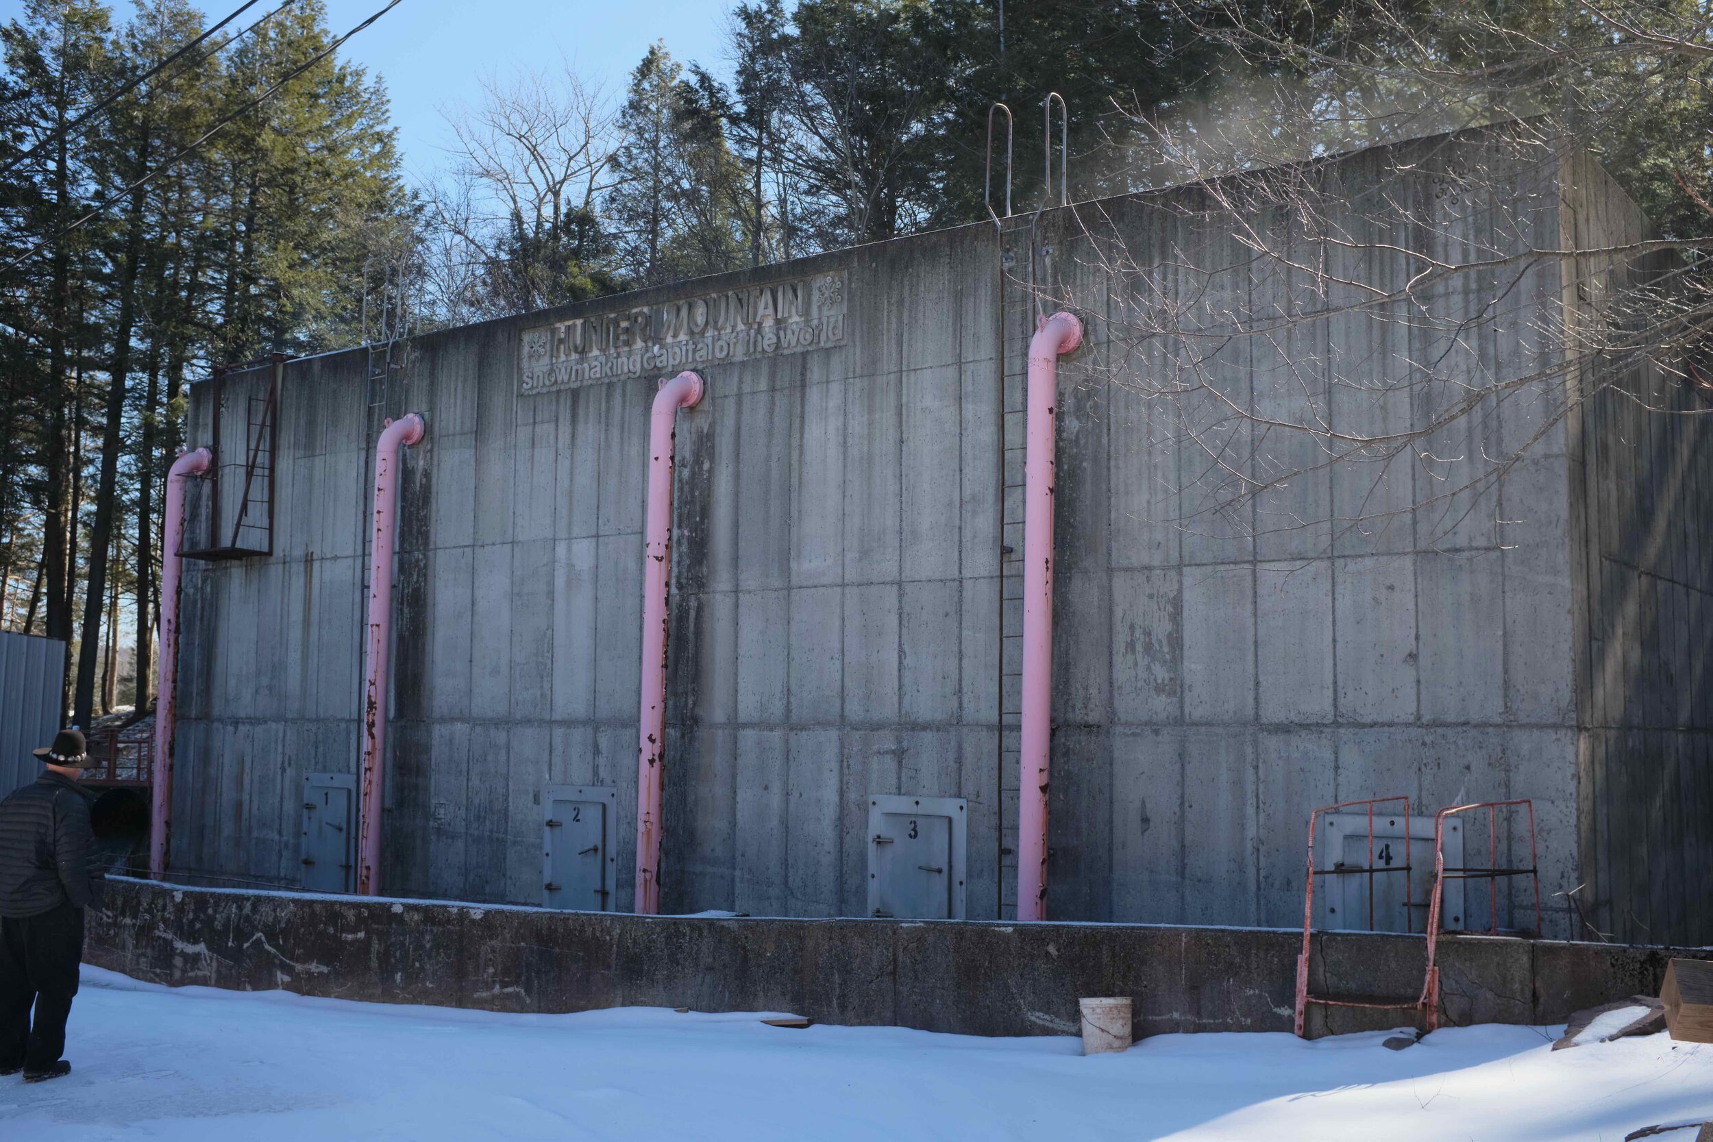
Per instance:
[[[497,1015],[168,990],[84,969],[69,1079],[0,1080],[0,1139],[1622,1139],[1713,1116],[1713,1046],[1557,1029],[1067,1038],[625,1008]],[[1694,1132],[1663,1135],[1665,1142]]]

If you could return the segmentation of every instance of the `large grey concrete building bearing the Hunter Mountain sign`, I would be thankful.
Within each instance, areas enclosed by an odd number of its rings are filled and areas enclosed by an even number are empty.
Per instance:
[[[1293,925],[1316,806],[1530,798],[1549,933],[1581,885],[1602,931],[1713,940],[1704,421],[1552,368],[1588,283],[1643,271],[1521,257],[1644,228],[1591,161],[1502,134],[1076,204],[442,330],[392,370],[289,361],[250,493],[271,370],[199,382],[221,479],[192,531],[266,491],[271,555],[187,563],[173,875],[344,887],[372,455],[420,413],[385,890],[630,909],[649,402],[689,366],[663,911],[872,914],[870,813],[903,796],[956,820],[961,901],[928,914],[1014,914],[1023,373],[1067,306],[1050,916]],[[594,830],[555,841],[555,806]],[[1470,863],[1528,863],[1514,820],[1497,854],[1470,832]],[[589,846],[577,899],[545,887]]]

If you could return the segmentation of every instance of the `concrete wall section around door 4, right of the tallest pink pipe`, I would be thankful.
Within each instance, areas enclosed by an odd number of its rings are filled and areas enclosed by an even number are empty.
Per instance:
[[[1429,813],[1533,798],[1545,892],[1574,887],[1569,488],[1550,385],[1336,464],[1326,440],[1268,426],[1319,416],[1384,440],[1537,372],[1554,264],[1408,283],[1425,259],[1550,248],[1555,178],[1480,139],[1435,139],[1348,156],[1249,214],[1185,188],[1052,219],[1052,291],[1100,315],[1059,421],[1053,914],[1300,923],[1310,808],[1393,794]],[[1305,238],[1298,202],[1353,245]],[[1376,291],[1398,300],[1376,306]],[[1021,473],[1031,306],[1016,308]],[[1021,512],[1007,527],[1021,553]],[[1526,832],[1501,846],[1526,853]],[[1526,865],[1511,856],[1499,863]],[[1501,923],[1521,890],[1501,889]],[[1485,913],[1485,889],[1470,904]],[[1549,916],[1549,931],[1567,928]]]

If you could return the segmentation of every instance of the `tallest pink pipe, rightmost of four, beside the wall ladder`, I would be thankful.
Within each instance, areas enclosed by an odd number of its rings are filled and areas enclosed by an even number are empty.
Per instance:
[[[1023,743],[1018,805],[1018,919],[1047,919],[1047,776],[1053,697],[1053,485],[1059,356],[1083,344],[1071,313],[1038,320],[1030,341],[1023,457]]]

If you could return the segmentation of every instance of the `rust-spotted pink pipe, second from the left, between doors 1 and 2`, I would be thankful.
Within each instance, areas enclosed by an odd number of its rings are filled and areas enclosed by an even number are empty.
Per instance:
[[[387,664],[392,647],[392,541],[397,529],[399,449],[423,438],[423,418],[389,419],[375,443],[375,522],[368,563],[368,644],[363,647],[363,800],[356,890],[380,895],[382,794],[387,788]]]

